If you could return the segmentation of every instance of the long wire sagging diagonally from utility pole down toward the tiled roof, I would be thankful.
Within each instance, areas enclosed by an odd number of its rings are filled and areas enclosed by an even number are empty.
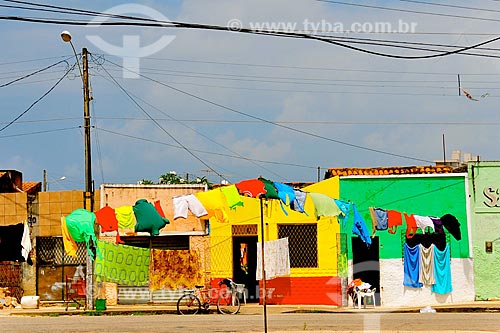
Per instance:
[[[113,65],[115,65],[115,66],[117,66],[117,67],[120,67],[120,68],[123,68],[125,70],[131,71],[130,69],[127,69],[127,68],[125,68],[123,66],[120,66],[120,65],[118,65],[118,64],[116,64],[114,62],[111,62],[109,60],[106,60],[106,61],[109,62],[109,63],[111,63],[111,64],[113,64]],[[256,120],[262,121],[263,123],[271,124],[271,125],[274,125],[274,126],[278,126],[278,127],[290,130],[292,132],[301,133],[301,134],[304,134],[304,135],[307,135],[307,136],[311,136],[311,137],[315,137],[315,138],[318,138],[318,139],[323,139],[323,140],[334,142],[334,143],[338,143],[338,144],[341,144],[341,145],[345,145],[345,146],[349,146],[349,147],[353,147],[353,148],[358,148],[358,149],[362,149],[362,150],[367,150],[367,151],[371,151],[371,152],[376,152],[376,153],[380,153],[380,154],[385,154],[385,155],[390,155],[390,156],[394,156],[394,157],[400,157],[400,158],[405,158],[405,159],[410,159],[410,160],[415,160],[415,161],[431,162],[431,163],[433,163],[432,161],[418,159],[418,158],[414,158],[414,157],[410,157],[410,156],[405,156],[405,155],[400,155],[400,154],[395,154],[395,153],[389,153],[389,152],[382,151],[382,150],[379,150],[379,149],[368,148],[368,147],[364,147],[364,146],[360,146],[360,145],[356,145],[356,144],[352,144],[352,143],[348,143],[348,142],[344,142],[344,141],[340,141],[340,140],[328,138],[328,137],[325,137],[325,136],[322,136],[322,135],[310,133],[310,132],[307,132],[307,131],[303,131],[303,130],[300,130],[300,129],[297,129],[297,128],[293,128],[293,127],[287,126],[287,125],[278,124],[276,122],[273,122],[273,121],[270,121],[270,120],[267,120],[267,119],[264,119],[264,118],[261,118],[261,117],[253,116],[251,114],[248,114],[248,113],[239,111],[237,109],[234,109],[234,108],[222,105],[220,103],[211,101],[211,100],[209,100],[207,98],[197,96],[197,95],[192,94],[190,92],[184,91],[182,89],[179,89],[179,88],[173,87],[171,85],[168,85],[168,84],[166,84],[164,82],[158,81],[158,80],[153,79],[153,78],[148,77],[148,76],[145,76],[144,74],[140,74],[140,73],[137,73],[137,72],[134,72],[134,71],[131,71],[131,72],[133,72],[134,74],[139,75],[141,77],[144,77],[144,78],[146,78],[146,79],[148,79],[148,80],[150,80],[152,82],[155,82],[155,83],[160,84],[160,85],[162,85],[164,87],[167,87],[167,88],[169,88],[171,90],[180,92],[180,93],[182,93],[182,94],[184,94],[186,96],[198,99],[198,100],[203,101],[205,103],[211,104],[213,106],[222,108],[224,110],[227,110],[227,111],[230,111],[230,112],[233,112],[233,113],[245,116],[245,117],[249,117],[249,118],[252,118],[252,119],[256,119]]]

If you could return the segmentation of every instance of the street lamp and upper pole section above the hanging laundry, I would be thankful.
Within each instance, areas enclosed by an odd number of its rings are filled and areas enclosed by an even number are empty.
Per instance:
[[[82,49],[82,63],[83,71],[80,67],[80,60],[76,54],[75,47],[71,42],[71,34],[69,31],[65,30],[61,32],[61,39],[69,43],[73,49],[73,53],[76,58],[76,63],[78,64],[78,69],[80,71],[80,76],[83,83],[83,129],[85,132],[85,199],[84,208],[94,211],[94,191],[92,186],[92,163],[90,154],[90,90],[89,90],[89,72],[88,72],[88,51],[86,48]]]

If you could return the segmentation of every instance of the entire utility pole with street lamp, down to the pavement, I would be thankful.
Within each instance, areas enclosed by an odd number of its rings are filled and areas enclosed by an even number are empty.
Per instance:
[[[75,54],[76,63],[78,64],[78,69],[80,70],[80,76],[83,83],[83,129],[85,133],[85,192],[83,207],[91,212],[94,211],[94,190],[92,186],[92,167],[91,167],[91,157],[90,157],[90,90],[89,90],[89,71],[88,71],[88,51],[86,48],[82,49],[82,63],[83,70],[80,67],[80,60],[76,54],[75,47],[71,42],[71,34],[69,31],[63,31],[61,33],[61,39],[69,43]],[[95,225],[94,225],[95,228]],[[96,244],[94,244],[96,245]],[[90,259],[89,254],[86,255],[87,273],[86,273],[86,290],[85,290],[85,307],[87,310],[94,309],[94,263]]]

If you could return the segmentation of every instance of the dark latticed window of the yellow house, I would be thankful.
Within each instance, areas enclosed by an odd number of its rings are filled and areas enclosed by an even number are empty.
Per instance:
[[[288,237],[290,267],[318,267],[316,224],[278,224],[278,238]]]

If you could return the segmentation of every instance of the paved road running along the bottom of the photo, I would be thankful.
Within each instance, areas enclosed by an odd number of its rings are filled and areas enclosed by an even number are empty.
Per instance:
[[[264,332],[261,315],[9,316],[5,332]],[[500,332],[500,313],[272,314],[268,332]]]

